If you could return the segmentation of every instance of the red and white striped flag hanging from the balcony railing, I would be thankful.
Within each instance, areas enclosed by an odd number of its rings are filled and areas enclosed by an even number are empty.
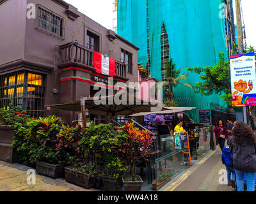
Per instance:
[[[114,77],[115,73],[115,59],[104,57],[99,52],[93,51],[93,66],[96,68],[97,73]]]

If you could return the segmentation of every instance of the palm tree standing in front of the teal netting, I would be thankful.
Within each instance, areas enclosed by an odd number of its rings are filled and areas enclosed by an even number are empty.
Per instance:
[[[193,89],[192,85],[184,82],[180,82],[180,80],[186,80],[188,78],[188,74],[184,75],[181,73],[181,69],[177,69],[177,66],[173,59],[171,58],[170,61],[166,61],[165,63],[165,73],[166,73],[166,80],[163,82],[163,87],[170,87],[170,89],[166,89],[166,98],[170,101],[174,101],[174,93],[173,87],[177,86],[178,84],[184,85]]]

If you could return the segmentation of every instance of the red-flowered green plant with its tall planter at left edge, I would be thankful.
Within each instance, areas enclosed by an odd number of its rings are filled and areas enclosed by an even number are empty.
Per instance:
[[[19,156],[11,145],[15,136],[14,125],[25,124],[29,120],[29,115],[20,106],[13,106],[12,99],[9,101],[7,108],[0,108],[0,160],[15,163]]]

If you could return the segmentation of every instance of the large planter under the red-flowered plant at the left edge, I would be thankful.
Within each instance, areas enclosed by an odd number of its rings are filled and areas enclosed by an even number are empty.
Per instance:
[[[17,163],[19,156],[11,146],[14,136],[13,126],[0,126],[0,160]]]

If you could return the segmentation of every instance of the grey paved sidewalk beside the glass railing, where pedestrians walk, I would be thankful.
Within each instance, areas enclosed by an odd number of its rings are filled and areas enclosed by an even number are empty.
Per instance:
[[[220,147],[217,146],[164,191],[232,191],[231,186],[219,183],[221,169],[226,170],[221,162]]]

